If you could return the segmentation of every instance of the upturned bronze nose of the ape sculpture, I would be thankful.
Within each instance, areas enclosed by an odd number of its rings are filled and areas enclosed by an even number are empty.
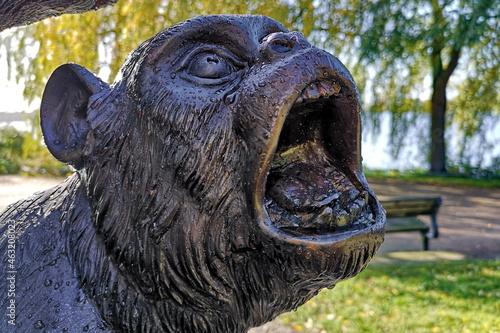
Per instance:
[[[273,61],[310,47],[311,44],[301,32],[276,32],[262,40],[260,53],[265,60]]]

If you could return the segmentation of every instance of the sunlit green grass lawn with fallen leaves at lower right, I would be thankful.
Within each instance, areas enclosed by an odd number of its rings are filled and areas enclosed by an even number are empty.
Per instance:
[[[279,321],[297,332],[498,333],[500,261],[372,265]]]

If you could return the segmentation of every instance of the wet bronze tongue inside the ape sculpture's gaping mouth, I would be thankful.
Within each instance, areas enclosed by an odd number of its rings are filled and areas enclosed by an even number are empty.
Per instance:
[[[331,231],[359,219],[368,197],[331,166],[296,162],[271,172],[266,199],[278,227]]]

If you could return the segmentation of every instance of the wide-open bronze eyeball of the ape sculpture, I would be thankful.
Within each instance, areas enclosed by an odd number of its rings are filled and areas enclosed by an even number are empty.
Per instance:
[[[202,79],[221,79],[232,74],[233,64],[213,53],[202,53],[196,55],[187,69],[188,74]]]

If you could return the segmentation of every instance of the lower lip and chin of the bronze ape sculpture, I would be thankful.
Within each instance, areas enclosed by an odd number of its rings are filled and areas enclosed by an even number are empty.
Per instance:
[[[357,230],[322,235],[291,234],[274,225],[265,210],[261,211],[264,214],[260,216],[260,229],[274,244],[273,251],[279,249],[282,256],[301,267],[294,272],[293,282],[303,284],[305,289],[319,290],[357,275],[376,254],[384,240],[385,213],[378,201],[372,206],[373,224]]]

